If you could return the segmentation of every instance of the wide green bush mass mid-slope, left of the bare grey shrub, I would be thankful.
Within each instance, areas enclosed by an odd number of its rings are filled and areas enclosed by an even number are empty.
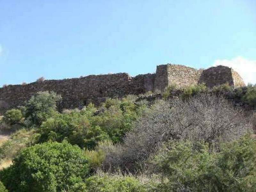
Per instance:
[[[129,96],[122,100],[107,99],[97,115],[94,115],[97,109],[92,104],[81,111],[65,110],[42,123],[40,142],[61,142],[66,138],[71,144],[87,149],[93,149],[99,141],[106,139],[120,142],[144,108],[145,105],[135,105]]]

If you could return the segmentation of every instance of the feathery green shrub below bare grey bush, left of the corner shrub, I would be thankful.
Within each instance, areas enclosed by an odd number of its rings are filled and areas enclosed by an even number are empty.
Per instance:
[[[201,177],[212,168],[213,155],[203,142],[195,147],[190,141],[170,141],[154,159],[156,171],[168,179],[159,185],[159,189],[207,191],[201,186]]]

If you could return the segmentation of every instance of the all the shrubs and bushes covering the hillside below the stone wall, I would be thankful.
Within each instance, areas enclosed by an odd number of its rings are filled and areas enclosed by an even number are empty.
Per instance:
[[[256,86],[162,94],[59,112],[59,95],[36,93],[0,120],[13,131],[0,145],[0,163],[12,161],[0,191],[253,191]]]

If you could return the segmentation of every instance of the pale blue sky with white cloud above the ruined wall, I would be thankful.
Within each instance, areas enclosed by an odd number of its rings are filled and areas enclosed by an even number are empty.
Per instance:
[[[256,83],[256,1],[0,0],[0,86],[165,63],[227,64]]]

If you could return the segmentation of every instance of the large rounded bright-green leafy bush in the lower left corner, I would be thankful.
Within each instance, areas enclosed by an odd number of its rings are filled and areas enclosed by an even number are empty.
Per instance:
[[[83,151],[68,142],[46,142],[21,150],[13,165],[0,172],[10,191],[69,191],[89,175]]]

